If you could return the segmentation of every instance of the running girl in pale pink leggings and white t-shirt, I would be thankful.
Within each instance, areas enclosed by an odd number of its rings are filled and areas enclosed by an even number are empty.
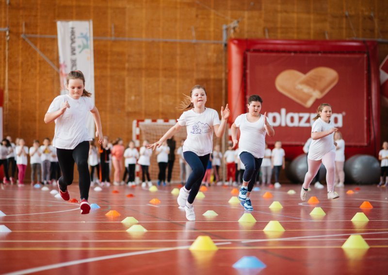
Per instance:
[[[311,127],[312,141],[307,155],[308,170],[300,193],[300,198],[303,201],[307,198],[308,186],[317,174],[321,163],[326,168],[327,199],[339,198],[337,192],[334,191],[336,169],[334,132],[337,132],[338,129],[334,127],[331,114],[330,104],[322,103],[318,107],[317,116],[313,119],[315,122]]]

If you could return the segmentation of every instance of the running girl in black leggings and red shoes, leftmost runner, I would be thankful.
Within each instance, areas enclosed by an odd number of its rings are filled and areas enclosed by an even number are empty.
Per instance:
[[[90,92],[85,90],[85,77],[81,71],[71,71],[66,77],[68,94],[59,95],[52,101],[45,122],[55,121],[53,146],[57,148],[57,157],[62,177],[58,180],[59,193],[62,199],[69,200],[67,185],[73,183],[74,163],[77,164],[81,214],[88,214],[90,174],[88,168],[89,141],[92,137],[86,128],[86,115],[90,111],[96,123],[96,137],[102,142],[101,119],[97,107],[94,106]]]

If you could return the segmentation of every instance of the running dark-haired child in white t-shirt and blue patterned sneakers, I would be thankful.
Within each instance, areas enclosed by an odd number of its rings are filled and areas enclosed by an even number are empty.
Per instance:
[[[253,210],[249,197],[256,182],[265,151],[265,135],[273,137],[275,130],[267,120],[267,113],[260,114],[263,100],[259,95],[248,98],[248,113],[239,115],[231,127],[233,148],[239,143],[238,153],[245,166],[239,199],[245,210]],[[240,140],[237,140],[237,128],[240,128]]]

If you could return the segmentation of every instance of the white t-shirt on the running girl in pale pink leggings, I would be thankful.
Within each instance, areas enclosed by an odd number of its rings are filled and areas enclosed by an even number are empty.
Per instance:
[[[326,123],[319,118],[312,124],[311,133],[328,131],[333,127],[334,124],[332,121]],[[321,160],[322,157],[330,151],[336,151],[336,147],[334,146],[334,132],[326,137],[312,140],[310,148],[308,149],[307,158],[311,160]]]

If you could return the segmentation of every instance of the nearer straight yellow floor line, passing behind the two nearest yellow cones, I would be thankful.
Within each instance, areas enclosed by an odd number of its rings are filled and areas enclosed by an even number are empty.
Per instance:
[[[18,251],[18,250],[153,250],[169,249],[175,247],[1,247],[0,251]],[[341,248],[340,245],[312,245],[312,246],[218,246],[218,249],[312,249],[312,248]],[[388,248],[388,245],[370,245],[370,248]],[[188,248],[178,248],[188,249]]]

